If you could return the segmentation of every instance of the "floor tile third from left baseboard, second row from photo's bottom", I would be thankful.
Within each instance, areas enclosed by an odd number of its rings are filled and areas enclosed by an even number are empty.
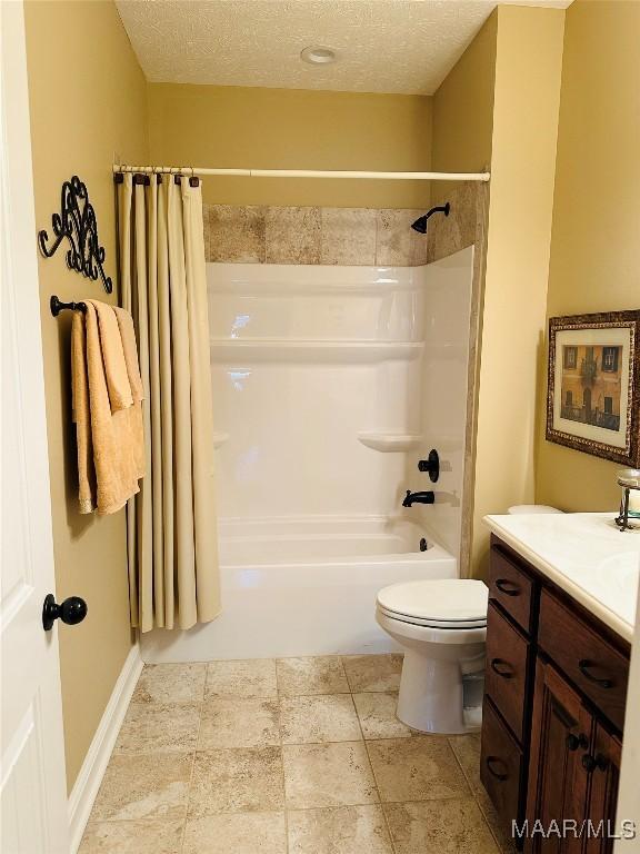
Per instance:
[[[289,744],[282,747],[289,810],[378,802],[362,742]]]

